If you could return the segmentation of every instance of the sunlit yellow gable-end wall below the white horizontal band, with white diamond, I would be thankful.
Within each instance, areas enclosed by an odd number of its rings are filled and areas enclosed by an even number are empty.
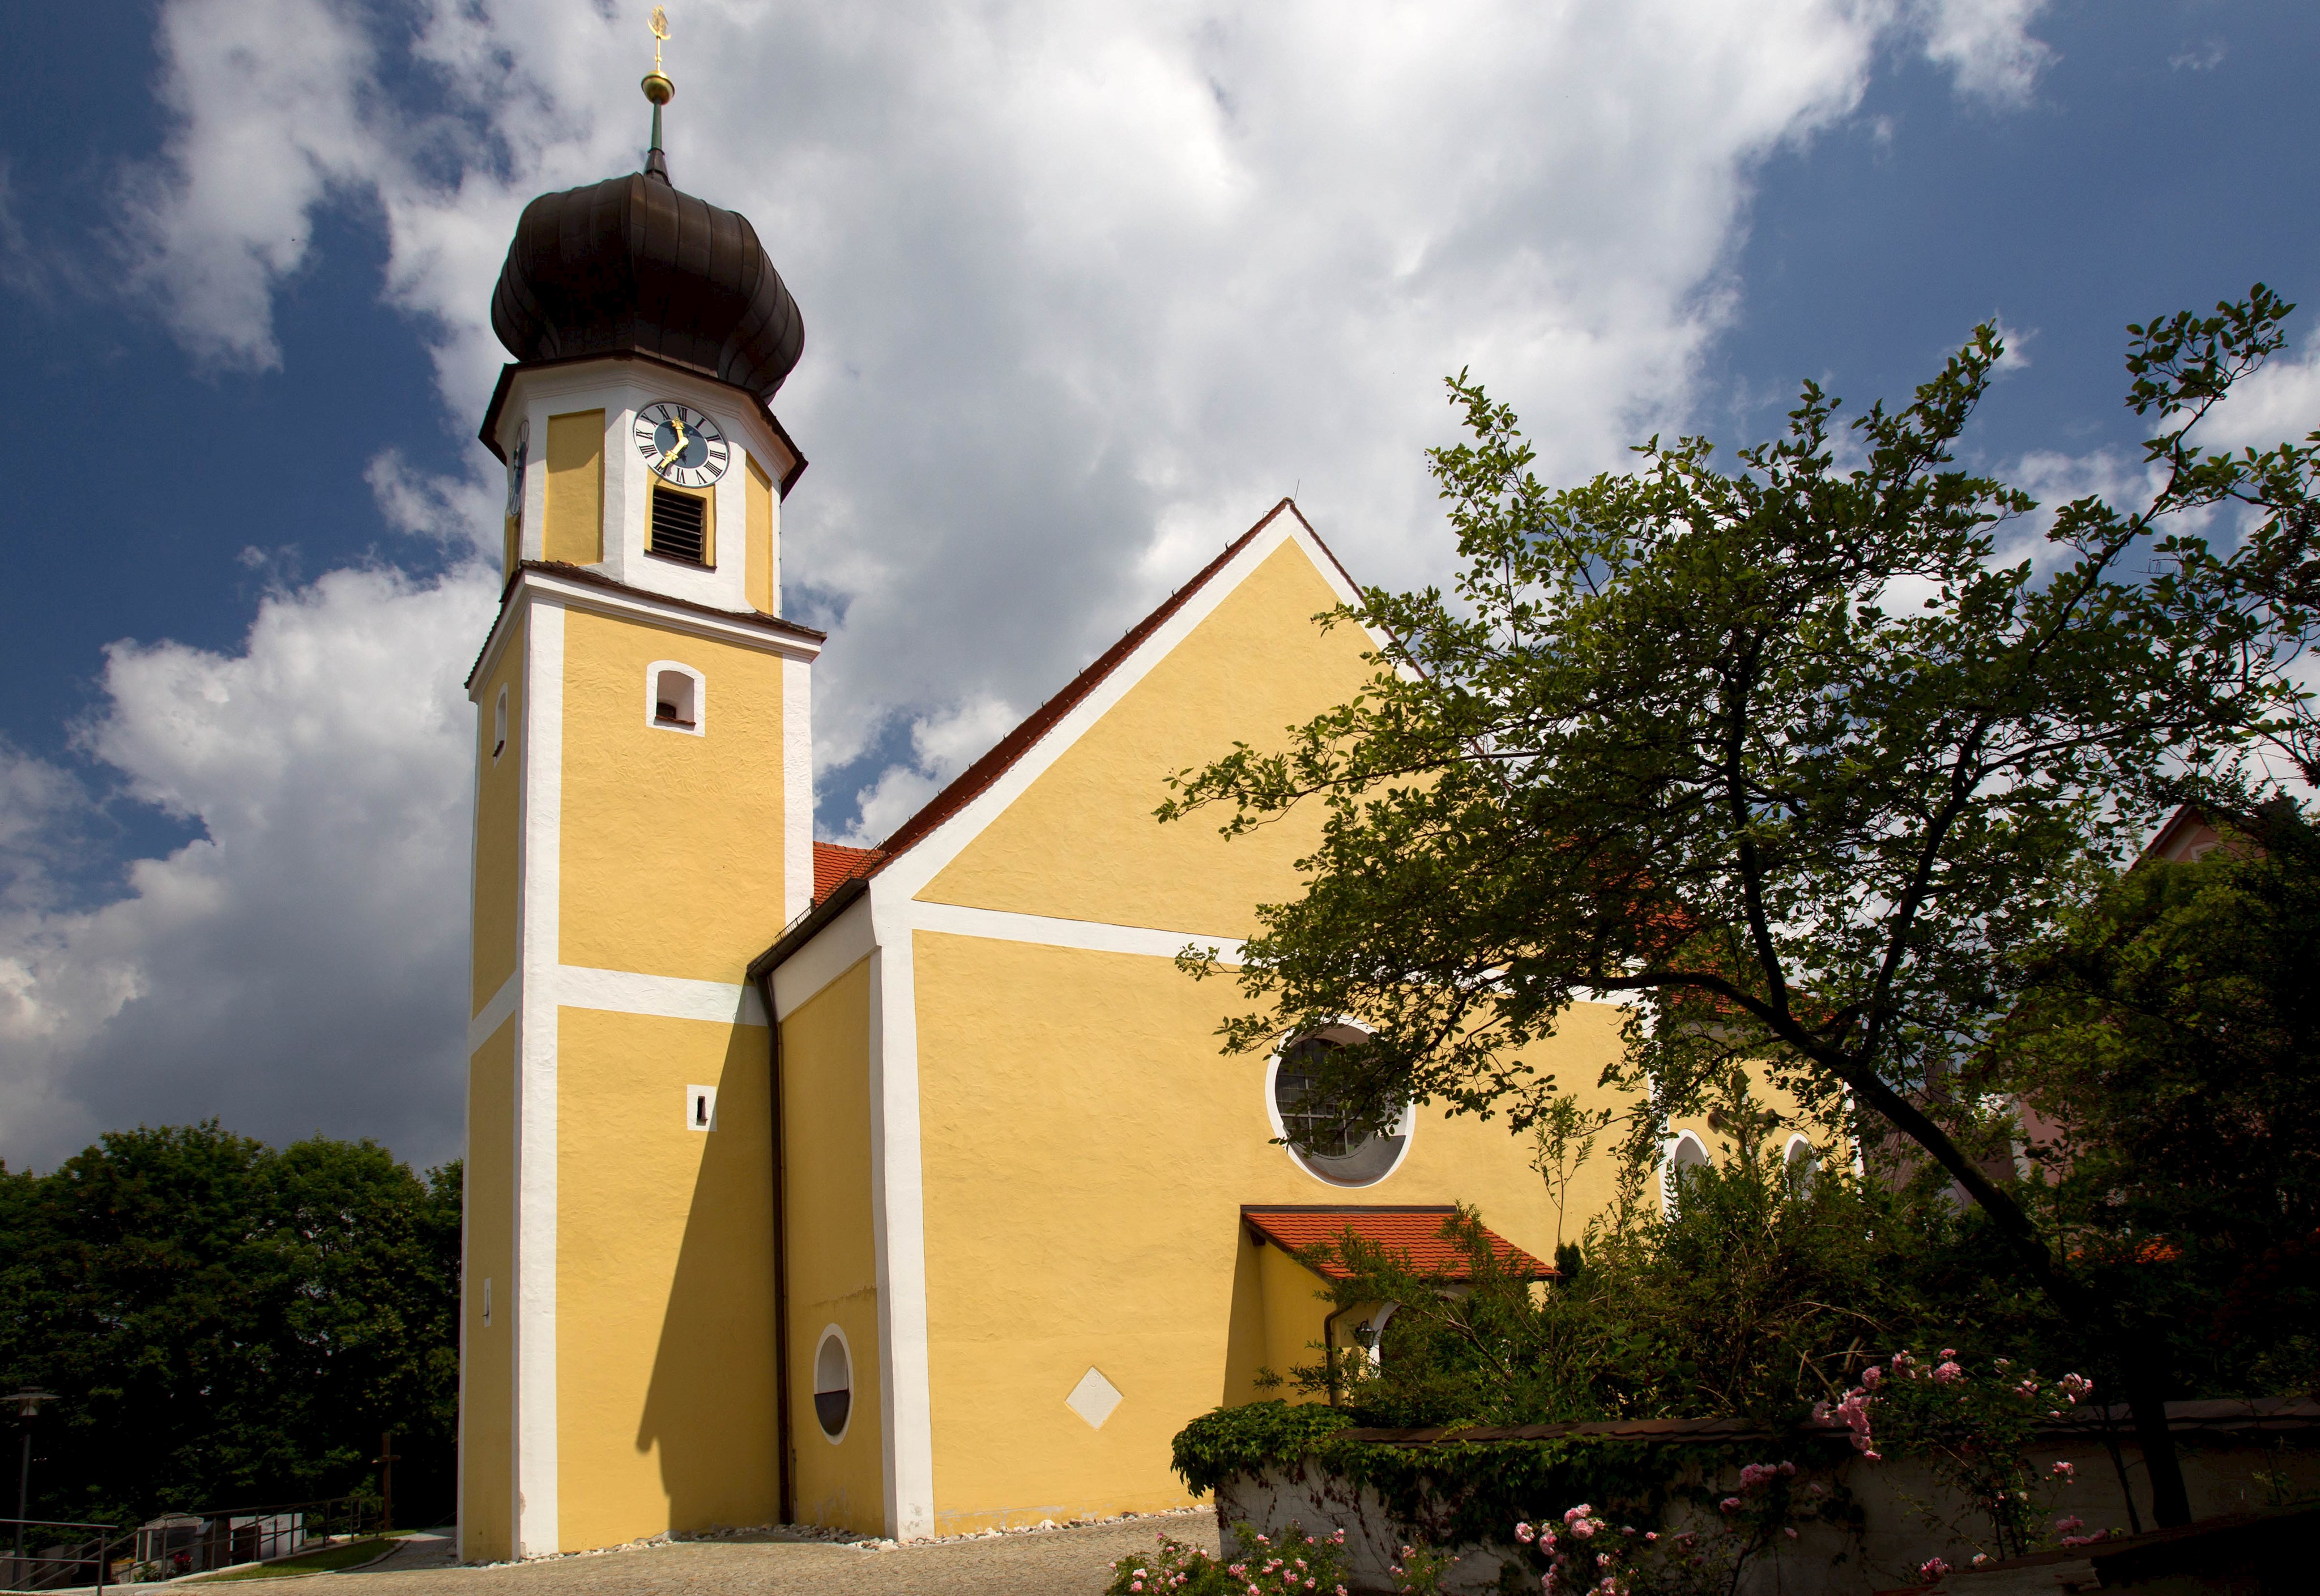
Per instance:
[[[1255,1362],[1313,1362],[1322,1315],[1311,1276],[1267,1294],[1241,1204],[1471,1202],[1552,1253],[1503,1120],[1422,1109],[1385,1181],[1306,1174],[1271,1146],[1267,1060],[1216,1051],[1232,993],[1165,958],[919,933],[914,963],[937,1533],[1186,1501],[1169,1438],[1246,1401]],[[1575,1009],[1538,1067],[1592,1083],[1617,1021]],[[1267,1297],[1299,1322],[1250,1325]],[[1123,1392],[1102,1429],[1063,1401],[1090,1364]]]

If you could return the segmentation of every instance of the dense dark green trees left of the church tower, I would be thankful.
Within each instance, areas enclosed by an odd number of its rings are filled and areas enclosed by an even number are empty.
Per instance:
[[[399,1496],[450,1503],[457,1165],[114,1132],[0,1178],[0,1378],[65,1399],[35,1431],[35,1517],[343,1494],[385,1429]]]

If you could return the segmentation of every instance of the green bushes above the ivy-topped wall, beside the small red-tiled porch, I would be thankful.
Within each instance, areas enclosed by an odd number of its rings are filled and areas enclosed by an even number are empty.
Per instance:
[[[1355,1234],[1318,1248],[1346,1271],[1334,1311],[1399,1306],[1376,1364],[1341,1348],[1292,1369],[1297,1387],[1392,1427],[1735,1413],[1782,1427],[1895,1345],[2037,1348],[2035,1306],[1972,1262],[1974,1216],[1842,1167],[1805,1178],[1766,1151],[1756,1113],[1733,1081],[1717,1162],[1680,1174],[1668,1213],[1631,1188],[1550,1290],[1496,1260],[1473,1211],[1443,1225],[1457,1283]]]

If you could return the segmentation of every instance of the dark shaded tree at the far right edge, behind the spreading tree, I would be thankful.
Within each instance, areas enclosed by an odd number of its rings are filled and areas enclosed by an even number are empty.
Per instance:
[[[2053,1225],[2178,1327],[2211,1387],[2320,1380],[2320,833],[2290,803],[2065,916],[1974,1072],[2032,1141]]]

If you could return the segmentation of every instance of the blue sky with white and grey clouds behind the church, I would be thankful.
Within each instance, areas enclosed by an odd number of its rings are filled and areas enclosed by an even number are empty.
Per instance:
[[[1471,367],[1550,478],[1900,394],[2132,478],[2123,325],[2320,295],[2320,9],[668,0],[682,188],[805,309],[784,603],[875,840],[1295,492],[1445,573]],[[74,7],[0,104],[0,1158],[218,1116],[457,1153],[473,429],[524,200],[638,165],[629,0]],[[2320,311],[2320,309],[2315,309]],[[2320,364],[2243,425],[2320,425]],[[768,907],[768,935],[777,909]]]

